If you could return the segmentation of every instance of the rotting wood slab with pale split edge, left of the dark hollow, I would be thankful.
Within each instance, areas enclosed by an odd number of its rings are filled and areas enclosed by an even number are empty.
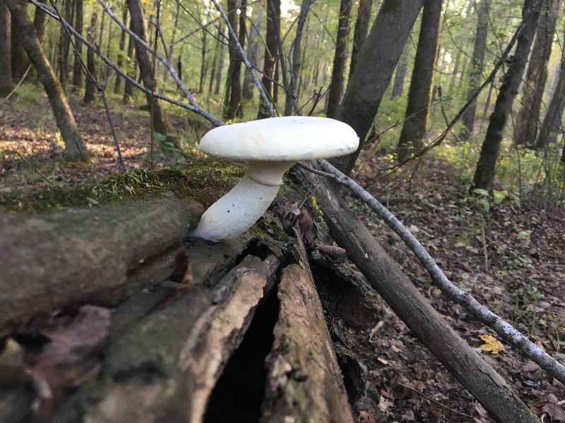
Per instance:
[[[196,285],[168,307],[158,307],[163,293],[143,301],[141,291],[118,307],[101,376],[75,393],[55,421],[202,421],[215,382],[273,287],[279,264],[273,255],[247,256],[210,288],[211,263],[225,254],[225,245],[211,247],[217,249],[212,255],[189,251]],[[167,274],[161,264],[155,271],[151,278]]]

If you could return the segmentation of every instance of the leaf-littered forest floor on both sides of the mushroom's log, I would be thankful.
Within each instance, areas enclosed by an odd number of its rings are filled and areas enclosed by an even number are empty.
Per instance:
[[[119,169],[102,106],[80,106],[78,99],[71,97],[71,108],[93,155],[90,166],[61,161],[63,145],[44,98],[0,102],[0,196],[14,190],[100,180]],[[112,110],[127,168],[147,168],[149,114],[116,104]],[[181,117],[172,117],[172,121],[181,132],[188,128]],[[191,135],[193,140],[200,131],[196,129]],[[157,168],[186,161],[171,146],[157,147],[154,160]],[[364,154],[362,171],[355,178],[367,183],[387,166],[390,161],[384,152]],[[547,353],[565,361],[563,208],[541,209],[528,201],[518,207],[505,201],[492,204],[485,213],[475,197],[462,193],[465,190],[460,187],[458,171],[433,156],[424,157],[415,176],[411,175],[410,169],[400,171],[371,190],[381,200],[403,199],[391,205],[391,210],[427,247],[453,283],[516,324]],[[351,203],[434,307],[521,398],[535,407],[538,415],[549,412],[552,421],[565,422],[565,413],[556,405],[565,400],[565,388],[548,380],[537,365],[523,360],[508,346],[485,337],[494,333],[473,321],[460,306],[444,301],[402,241],[369,209],[354,200]],[[382,304],[382,310],[382,321],[370,333],[349,333],[368,375],[367,395],[358,403],[360,421],[490,422],[482,406],[403,322],[386,305]],[[489,347],[497,353],[490,353]]]

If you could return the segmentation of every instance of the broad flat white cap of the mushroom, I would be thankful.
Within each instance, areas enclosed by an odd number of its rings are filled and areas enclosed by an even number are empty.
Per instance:
[[[359,137],[340,121],[285,116],[224,125],[202,137],[200,149],[216,157],[247,161],[297,161],[355,152]]]

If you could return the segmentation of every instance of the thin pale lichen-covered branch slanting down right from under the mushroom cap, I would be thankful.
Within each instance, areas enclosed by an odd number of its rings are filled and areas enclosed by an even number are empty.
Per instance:
[[[326,160],[320,160],[318,163],[323,171],[322,173],[325,173],[323,176],[332,178],[341,185],[344,185],[348,190],[350,190],[350,192],[352,192],[353,195],[355,195],[355,197],[362,200],[362,202],[367,204],[374,212],[376,212],[376,214],[400,236],[404,243],[410,248],[410,250],[412,250],[414,255],[420,260],[420,262],[422,262],[424,268],[432,277],[432,283],[434,283],[434,285],[437,286],[449,300],[456,302],[458,305],[467,309],[473,317],[498,333],[504,341],[516,348],[521,355],[528,357],[530,360],[537,363],[547,373],[560,381],[561,384],[565,384],[565,367],[563,364],[554,360],[553,357],[545,353],[544,350],[535,345],[511,324],[506,322],[497,314],[494,314],[494,312],[487,309],[487,307],[484,307],[484,305],[480,304],[480,302],[478,302],[470,293],[460,290],[460,288],[451,283],[444,272],[441,271],[439,266],[436,264],[432,256],[430,256],[427,250],[422,246],[422,244],[420,244],[420,241],[418,241],[414,235],[408,231],[403,223],[396,219],[394,214],[388,211],[388,209],[376,200],[375,197],[357,184],[355,180],[345,176]],[[304,164],[300,165],[302,167],[305,166]],[[314,173],[320,175],[320,171],[317,171],[316,169],[308,170],[314,171]]]

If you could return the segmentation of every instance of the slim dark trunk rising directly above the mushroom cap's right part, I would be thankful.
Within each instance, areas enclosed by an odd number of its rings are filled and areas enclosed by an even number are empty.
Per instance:
[[[352,0],[340,1],[338,34],[335,37],[335,54],[333,56],[330,92],[328,93],[328,118],[335,118],[338,115],[341,97],[343,97],[345,61],[347,60],[347,37],[349,36],[352,6]]]

